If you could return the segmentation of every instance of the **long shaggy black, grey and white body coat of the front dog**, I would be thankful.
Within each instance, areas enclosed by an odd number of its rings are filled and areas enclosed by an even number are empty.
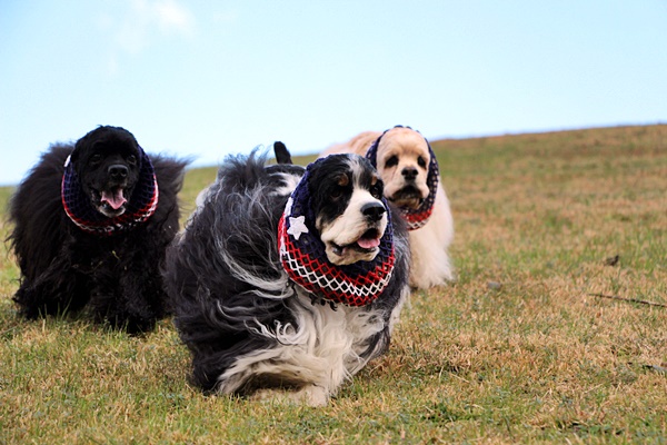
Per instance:
[[[265,160],[229,158],[169,248],[175,324],[203,390],[323,405],[389,344],[409,290],[407,235],[395,231],[395,271],[377,300],[321,304],[289,280],[278,253],[278,221],[303,168]]]

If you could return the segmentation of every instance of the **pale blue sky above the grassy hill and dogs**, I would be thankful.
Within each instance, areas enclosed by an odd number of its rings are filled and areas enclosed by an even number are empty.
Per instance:
[[[665,0],[0,0],[0,184],[98,125],[201,166],[666,121]]]

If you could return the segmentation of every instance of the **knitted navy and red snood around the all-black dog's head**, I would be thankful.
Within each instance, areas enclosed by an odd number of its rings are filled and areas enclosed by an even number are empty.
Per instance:
[[[128,199],[127,210],[113,218],[100,214],[90,204],[90,198],[83,192],[70,157],[67,158],[60,196],[64,212],[77,227],[90,234],[110,236],[130,229],[155,214],[160,195],[158,180],[150,158],[141,148],[139,150],[141,151],[139,180],[132,196]]]

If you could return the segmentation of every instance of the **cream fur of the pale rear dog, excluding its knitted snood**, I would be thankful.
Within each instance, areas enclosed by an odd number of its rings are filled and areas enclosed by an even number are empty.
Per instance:
[[[366,155],[370,146],[380,137],[381,132],[365,131],[347,142],[336,144],[327,148],[320,157],[355,152]],[[387,166],[387,161],[396,156],[398,162]],[[421,157],[421,164],[419,161]],[[401,171],[414,168],[417,171],[416,186],[421,192],[421,198],[428,196],[427,167],[430,160],[428,144],[424,137],[409,128],[398,127],[387,131],[380,140],[377,152],[378,172],[385,181],[385,196],[399,206],[418,206],[416,200],[406,199],[396,195],[405,187]],[[438,191],[434,212],[428,222],[420,229],[410,231],[410,251],[412,264],[410,269],[410,285],[418,288],[444,285],[454,279],[452,265],[447,249],[454,239],[454,218],[449,207],[449,199],[445,192],[441,181],[438,182]]]

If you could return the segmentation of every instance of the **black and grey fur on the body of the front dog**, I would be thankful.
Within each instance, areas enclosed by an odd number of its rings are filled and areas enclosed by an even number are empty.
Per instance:
[[[277,159],[285,162],[288,156],[281,154]],[[285,190],[288,184],[296,182],[295,178],[298,181],[305,169],[287,164],[265,166],[265,161],[255,152],[228,158],[203,206],[168,249],[165,276],[173,300],[175,324],[192,354],[192,380],[207,392],[220,389],[223,382],[219,377],[239,357],[285,346],[258,333],[258,325],[291,324],[298,329],[298,317],[313,310],[312,303],[305,304],[297,286],[288,279],[277,240],[278,221],[291,191]],[[310,185],[315,194],[326,194],[320,190],[329,185],[323,177],[340,175],[339,161],[330,157],[313,175],[320,180]],[[368,164],[368,168],[372,167]],[[400,218],[396,216],[395,220]],[[380,310],[384,317],[385,328],[360,345],[360,356],[365,358],[386,349],[391,312],[407,288],[409,249],[400,222],[395,239],[396,268],[389,285],[370,306],[354,309]],[[257,277],[261,284],[249,283],[242,274]],[[233,392],[287,383],[308,384],[298,377],[286,382],[285,376],[256,375],[253,382],[249,378]]]

